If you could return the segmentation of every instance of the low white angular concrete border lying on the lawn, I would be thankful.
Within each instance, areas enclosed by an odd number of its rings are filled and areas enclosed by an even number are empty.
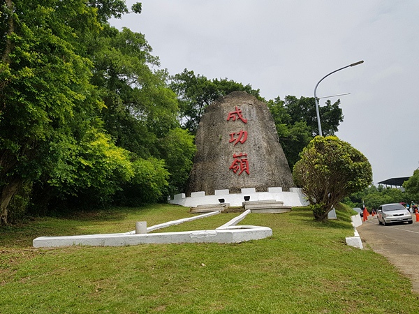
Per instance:
[[[191,217],[194,219],[203,218],[203,216],[212,216],[215,213],[204,214]],[[219,214],[219,212],[216,212]],[[135,231],[127,233],[114,234],[89,234],[68,237],[38,237],[34,239],[35,248],[57,247],[57,246],[131,246],[137,244],[179,244],[179,243],[239,243],[243,241],[264,239],[272,236],[272,229],[269,227],[258,227],[253,225],[239,225],[239,223],[249,212],[244,212],[238,217],[233,218],[228,223],[222,225],[216,230],[196,230],[186,232],[161,232],[153,234],[135,234]],[[187,220],[193,220],[185,218]],[[184,222],[183,221],[183,222]],[[161,224],[176,225],[179,220]],[[161,225],[156,225],[160,226]],[[153,227],[156,227],[153,226]],[[158,228],[149,227],[149,230]]]

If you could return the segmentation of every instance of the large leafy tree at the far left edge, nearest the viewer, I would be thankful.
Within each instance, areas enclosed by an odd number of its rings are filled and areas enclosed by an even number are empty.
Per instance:
[[[75,108],[98,108],[91,63],[73,44],[82,29],[99,25],[84,1],[8,0],[1,10],[0,220],[6,224],[8,204],[24,181],[54,166],[43,153],[57,138],[71,136]],[[70,26],[76,16],[78,29]]]

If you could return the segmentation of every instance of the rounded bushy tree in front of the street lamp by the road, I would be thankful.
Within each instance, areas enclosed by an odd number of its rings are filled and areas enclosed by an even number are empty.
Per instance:
[[[327,220],[329,211],[344,197],[372,183],[367,158],[335,136],[314,137],[300,156],[293,178],[307,195],[316,220]]]

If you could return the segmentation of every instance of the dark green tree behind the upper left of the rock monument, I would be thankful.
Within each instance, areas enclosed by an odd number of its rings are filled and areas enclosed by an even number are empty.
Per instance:
[[[250,84],[244,86],[227,79],[208,80],[207,77],[195,75],[193,71],[187,69],[172,77],[170,88],[178,97],[181,124],[192,134],[196,133],[205,107],[221,96],[233,91],[246,91],[260,100],[263,99],[259,95],[259,90],[252,89]]]

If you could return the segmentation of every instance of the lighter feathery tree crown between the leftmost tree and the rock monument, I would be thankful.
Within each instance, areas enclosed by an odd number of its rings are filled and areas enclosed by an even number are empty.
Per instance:
[[[156,139],[178,126],[176,96],[166,87],[165,71],[141,33],[105,26],[91,39],[92,82],[105,103],[105,129],[115,143],[134,154],[156,156]]]

